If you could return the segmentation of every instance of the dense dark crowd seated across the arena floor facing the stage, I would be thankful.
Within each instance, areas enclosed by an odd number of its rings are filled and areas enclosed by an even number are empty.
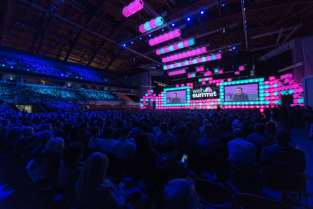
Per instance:
[[[5,123],[6,120],[11,124]],[[14,141],[10,145],[16,150],[15,154],[21,158],[28,156],[28,159],[34,159],[30,161],[32,164],[42,167],[42,173],[38,174],[32,173],[31,165],[28,166],[32,179],[35,179],[34,175],[44,176],[56,193],[66,194],[65,198],[71,199],[69,202],[74,206],[84,208],[125,208],[126,205],[129,208],[129,204],[140,205],[135,208],[149,208],[144,194],[151,198],[153,191],[163,191],[173,179],[205,178],[200,169],[203,165],[199,165],[204,161],[199,161],[199,156],[228,166],[223,169],[223,176],[229,178],[240,192],[258,195],[262,195],[262,187],[259,190],[262,180],[250,181],[250,177],[259,178],[260,167],[270,167],[275,162],[276,167],[299,167],[295,172],[299,175],[305,168],[303,152],[288,144],[291,140],[288,130],[277,131],[275,139],[278,141],[275,141],[273,130],[265,132],[270,128],[265,128],[267,121],[256,108],[220,111],[69,111],[64,108],[58,112],[24,113],[18,118],[3,114],[2,121],[3,127],[8,126],[5,140]],[[41,131],[34,131],[35,123],[36,126],[41,124]],[[244,123],[247,123],[246,128]],[[190,126],[193,126],[190,128],[192,132],[188,132]],[[37,149],[42,152],[38,154]],[[66,158],[62,161],[63,149]],[[275,160],[276,150],[284,152],[281,156],[289,157],[280,156]],[[69,159],[68,152],[74,153],[73,158]],[[188,155],[185,163],[179,162],[184,154]],[[298,162],[293,160],[295,155],[300,156]],[[62,173],[64,170],[67,173]],[[245,175],[242,175],[243,171]],[[75,179],[65,185],[64,179],[69,177],[64,175],[73,173]],[[216,176],[215,181],[219,181],[219,177],[222,175]],[[122,184],[118,185],[120,181]],[[186,183],[188,188],[193,188],[192,181]],[[166,188],[169,189],[170,185]],[[70,189],[64,191],[64,186]],[[164,201],[165,206],[170,204],[167,198]]]

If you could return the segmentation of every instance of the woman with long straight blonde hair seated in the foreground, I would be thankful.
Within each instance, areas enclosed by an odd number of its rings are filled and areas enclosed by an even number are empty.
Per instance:
[[[115,191],[113,184],[105,179],[108,164],[107,156],[100,152],[92,153],[86,159],[75,186],[77,200],[83,208],[125,208],[124,185]]]

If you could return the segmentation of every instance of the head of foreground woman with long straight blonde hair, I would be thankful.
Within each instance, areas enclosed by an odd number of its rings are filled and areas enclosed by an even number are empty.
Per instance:
[[[105,154],[100,152],[90,154],[77,180],[76,188],[87,194],[87,196],[97,194],[99,185],[106,182],[105,175],[108,164],[109,159]]]

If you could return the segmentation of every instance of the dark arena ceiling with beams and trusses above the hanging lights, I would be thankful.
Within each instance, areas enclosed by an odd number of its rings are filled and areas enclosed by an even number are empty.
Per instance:
[[[156,55],[155,49],[168,43],[150,46],[147,42],[150,37],[142,36],[138,29],[139,24],[160,14],[165,15],[164,23],[177,20],[171,28],[186,24],[181,29],[181,38],[195,36],[195,45],[190,49],[208,44],[207,50],[214,52],[238,44],[232,52],[222,50],[223,64],[232,62],[231,54],[236,54],[240,63],[247,63],[293,38],[313,34],[313,1],[309,0],[244,0],[244,12],[240,0],[146,0],[144,9],[126,18],[121,9],[130,2],[3,1],[1,45],[132,75],[158,64],[162,67],[162,55]],[[206,7],[203,14],[193,14],[203,7]],[[182,18],[188,14],[193,14],[189,22]],[[169,27],[165,27],[165,32]],[[159,29],[151,37],[161,33],[164,32]],[[139,68],[140,65],[143,67]]]

